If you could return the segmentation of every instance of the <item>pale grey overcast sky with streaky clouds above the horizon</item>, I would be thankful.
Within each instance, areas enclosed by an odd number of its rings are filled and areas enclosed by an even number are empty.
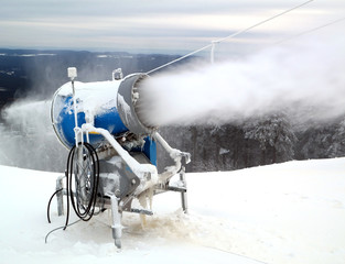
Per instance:
[[[0,0],[0,46],[182,54],[303,2]],[[236,50],[276,42],[344,16],[345,0],[314,0],[231,43]],[[343,21],[327,31],[336,28],[339,32],[344,26]]]

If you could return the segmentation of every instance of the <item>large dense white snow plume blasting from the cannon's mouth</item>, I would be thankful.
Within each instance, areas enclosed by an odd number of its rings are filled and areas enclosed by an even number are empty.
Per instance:
[[[309,43],[158,74],[142,87],[142,105],[149,106],[142,121],[220,125],[282,110],[302,123],[339,117],[345,113],[344,41]]]

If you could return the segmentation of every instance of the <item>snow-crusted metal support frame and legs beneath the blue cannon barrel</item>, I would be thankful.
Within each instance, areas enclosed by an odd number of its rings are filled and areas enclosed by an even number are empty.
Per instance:
[[[131,156],[122,146],[114,139],[114,136],[104,129],[94,128],[90,124],[83,124],[80,131],[83,133],[99,133],[110,144],[110,147],[114,150],[111,156],[119,156],[121,158],[122,165],[129,167],[131,173],[128,175],[120,167],[115,167],[114,173],[119,175],[120,184],[119,186],[111,186],[111,180],[109,180],[106,174],[99,174],[99,184],[103,186],[103,189],[99,189],[101,198],[98,198],[96,206],[101,209],[111,209],[112,213],[112,237],[115,240],[115,245],[121,248],[121,235],[122,235],[122,224],[121,216],[123,211],[136,212],[140,215],[153,215],[152,211],[144,209],[136,209],[131,207],[133,199],[140,200],[142,197],[145,197],[150,191],[152,195],[162,194],[165,191],[177,191],[181,193],[181,206],[184,212],[187,212],[187,188],[185,179],[185,168],[182,164],[187,164],[190,162],[191,155],[188,153],[181,152],[179,150],[172,148],[166,141],[158,133],[154,132],[152,138],[157,140],[158,143],[170,154],[171,158],[175,162],[174,166],[169,167],[162,174],[157,173],[157,167],[151,164],[140,164],[133,156]],[[115,155],[114,155],[115,154]],[[184,158],[184,161],[182,161]],[[180,182],[179,186],[170,186],[170,179],[179,174]],[[56,189],[64,189],[63,178],[58,177],[56,180]],[[138,183],[139,180],[139,183]],[[129,183],[133,185],[133,188],[130,190],[126,189]],[[129,193],[125,194],[123,191]],[[63,215],[64,205],[63,205],[63,195],[66,195],[66,191],[60,191],[57,195],[57,211],[58,216]]]

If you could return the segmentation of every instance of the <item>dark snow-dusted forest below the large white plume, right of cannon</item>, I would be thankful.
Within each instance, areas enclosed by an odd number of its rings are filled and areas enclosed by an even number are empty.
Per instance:
[[[345,120],[305,128],[291,123],[280,113],[241,124],[163,128],[162,134],[175,147],[192,154],[188,172],[230,170],[345,155]]]

